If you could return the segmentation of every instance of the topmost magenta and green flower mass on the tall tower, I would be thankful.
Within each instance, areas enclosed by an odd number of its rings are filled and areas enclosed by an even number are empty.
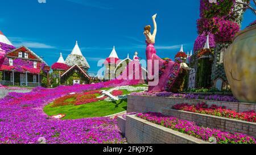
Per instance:
[[[209,0],[200,0],[200,17],[212,18],[216,15],[229,15],[235,2],[236,0],[217,0],[217,3],[210,3]]]

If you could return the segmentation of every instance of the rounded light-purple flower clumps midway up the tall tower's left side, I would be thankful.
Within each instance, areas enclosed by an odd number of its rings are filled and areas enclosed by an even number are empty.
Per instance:
[[[210,48],[213,48],[216,46],[215,41],[214,41],[214,35],[212,33],[209,33],[209,46]],[[196,38],[196,41],[194,43],[194,51],[198,51],[202,48],[204,48],[205,42],[207,40],[207,33],[203,32],[201,35],[199,35]]]

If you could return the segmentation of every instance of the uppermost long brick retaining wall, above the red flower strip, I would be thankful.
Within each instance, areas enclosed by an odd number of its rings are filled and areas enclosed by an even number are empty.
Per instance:
[[[183,99],[128,95],[127,112],[162,112],[163,108],[172,107],[175,104],[196,104],[199,102],[205,102],[209,104],[209,106],[212,104],[216,104],[217,106],[226,106],[227,108],[236,110],[237,112],[244,112],[250,110],[256,111],[256,103],[222,102],[204,99]]]

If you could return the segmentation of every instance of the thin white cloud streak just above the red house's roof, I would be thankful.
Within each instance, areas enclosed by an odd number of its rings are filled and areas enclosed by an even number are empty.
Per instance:
[[[9,37],[11,42],[15,47],[25,46],[28,48],[48,48],[55,49],[52,45],[47,45],[44,43],[39,43],[37,41],[32,41],[33,39],[21,38],[21,37]]]

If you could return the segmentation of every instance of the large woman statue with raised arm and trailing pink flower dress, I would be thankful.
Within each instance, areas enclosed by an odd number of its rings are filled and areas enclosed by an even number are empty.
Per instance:
[[[179,64],[171,60],[163,60],[156,55],[155,36],[157,26],[155,22],[156,14],[152,16],[154,31],[151,34],[151,26],[144,27],[144,36],[146,37],[146,56],[148,68],[148,91],[171,91],[175,79],[179,75],[180,68],[189,70],[190,68],[184,62]],[[155,73],[160,70],[159,74]],[[154,82],[151,82],[154,78]],[[156,80],[159,78],[158,80]],[[157,82],[156,82],[157,81]]]

